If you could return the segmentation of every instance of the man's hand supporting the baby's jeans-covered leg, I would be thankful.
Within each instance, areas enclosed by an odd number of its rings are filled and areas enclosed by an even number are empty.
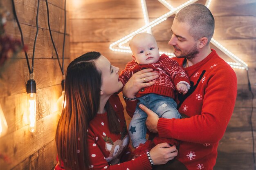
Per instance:
[[[155,112],[153,112],[152,110],[148,109],[143,104],[140,104],[139,108],[141,108],[141,110],[143,110],[148,115],[147,120],[146,120],[146,126],[147,126],[148,130],[150,132],[157,133],[158,132],[157,122],[159,119],[158,115]]]

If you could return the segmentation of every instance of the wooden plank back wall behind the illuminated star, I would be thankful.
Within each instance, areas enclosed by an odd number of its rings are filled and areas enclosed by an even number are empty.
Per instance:
[[[174,7],[186,0],[167,0]],[[198,3],[205,3],[199,0]],[[168,12],[157,0],[146,0],[150,20]],[[256,1],[212,0],[209,7],[216,20],[213,38],[249,65],[249,79],[256,95]],[[144,26],[140,0],[70,1],[70,52],[78,57],[99,51],[121,69],[131,60],[130,53],[114,52],[109,45]],[[170,39],[174,15],[153,27],[161,51],[171,52]],[[216,49],[225,60],[229,57]],[[247,71],[234,69],[238,78],[238,97],[225,136],[220,141],[215,170],[254,169],[253,139],[256,136],[255,99],[248,89]],[[223,82],[225,84],[225,82]],[[228,84],[227,84],[228,86]],[[227,96],[228,99],[228,96]],[[252,113],[253,104],[253,113]],[[225,114],[225,113],[223,113]],[[126,117],[129,119],[129,117]],[[251,126],[252,122],[252,126]]]

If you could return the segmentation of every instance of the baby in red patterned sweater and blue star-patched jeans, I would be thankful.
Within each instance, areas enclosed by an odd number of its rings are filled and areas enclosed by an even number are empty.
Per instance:
[[[158,114],[159,117],[168,119],[181,118],[177,111],[175,98],[176,92],[187,93],[190,84],[188,76],[179,64],[165,54],[159,55],[157,42],[149,33],[139,33],[130,40],[132,51],[131,62],[121,71],[119,79],[123,86],[128,82],[133,73],[144,69],[153,68],[159,77],[154,79],[155,84],[141,88],[137,93],[137,107],[129,125],[129,135],[132,146],[137,148],[146,143],[146,118],[147,114],[139,108],[144,104]],[[144,80],[145,82],[145,80]],[[124,99],[128,99],[124,97]]]

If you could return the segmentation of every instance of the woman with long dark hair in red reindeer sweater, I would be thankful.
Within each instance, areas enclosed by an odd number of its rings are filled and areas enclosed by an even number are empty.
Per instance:
[[[150,160],[164,164],[177,156],[175,146],[163,143],[150,150],[150,156],[132,159],[124,108],[114,95],[122,88],[118,71],[98,52],[86,53],[67,67],[66,106],[56,130],[56,170],[150,170]],[[150,85],[134,81],[141,76],[154,79],[148,71],[137,72],[128,82],[127,87],[134,85],[130,93]]]

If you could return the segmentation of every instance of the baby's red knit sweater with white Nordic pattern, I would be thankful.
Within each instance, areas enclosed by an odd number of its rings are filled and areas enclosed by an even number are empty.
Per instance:
[[[188,89],[190,87],[189,78],[182,67],[175,60],[165,54],[162,54],[159,57],[159,60],[152,64],[140,65],[134,60],[128,62],[124,70],[121,71],[119,75],[119,79],[123,83],[123,86],[128,82],[130,77],[132,77],[132,74],[145,68],[152,68],[153,72],[156,72],[159,77],[152,80],[155,82],[152,86],[142,88],[137,93],[136,97],[141,97],[148,93],[155,93],[174,99],[177,84],[184,83]]]

